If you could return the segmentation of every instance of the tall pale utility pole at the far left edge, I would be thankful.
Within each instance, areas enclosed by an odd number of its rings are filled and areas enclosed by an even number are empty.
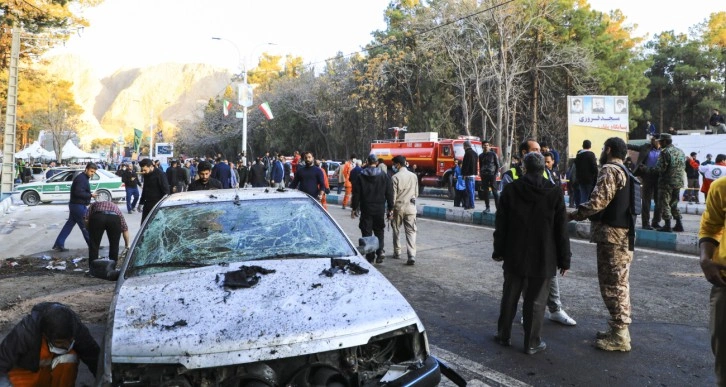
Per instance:
[[[3,165],[0,179],[0,200],[13,192],[15,184],[15,123],[18,110],[18,61],[20,60],[20,27],[12,30],[10,48],[10,76],[8,77],[8,107],[3,133]]]

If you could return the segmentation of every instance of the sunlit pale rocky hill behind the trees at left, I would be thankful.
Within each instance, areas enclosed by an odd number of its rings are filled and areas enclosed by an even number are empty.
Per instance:
[[[232,77],[226,69],[178,63],[100,76],[73,55],[50,58],[47,71],[73,82],[76,101],[85,111],[86,128],[80,130],[84,143],[121,134],[129,137],[133,128],[148,133],[159,117],[165,132],[171,131],[179,122],[200,117],[207,101],[222,94]]]

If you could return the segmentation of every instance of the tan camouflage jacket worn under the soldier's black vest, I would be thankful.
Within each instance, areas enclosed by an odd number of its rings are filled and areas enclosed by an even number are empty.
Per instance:
[[[620,159],[613,159],[610,162],[622,164]],[[607,208],[615,198],[615,194],[625,187],[628,177],[621,167],[612,164],[605,164],[600,168],[597,175],[595,189],[590,194],[590,200],[580,204],[574,213],[575,220],[585,220]],[[590,224],[590,241],[596,243],[613,243],[617,245],[628,244],[628,229],[612,227],[602,222]]]

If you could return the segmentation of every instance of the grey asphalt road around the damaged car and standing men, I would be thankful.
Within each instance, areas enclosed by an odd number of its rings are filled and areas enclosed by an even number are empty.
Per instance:
[[[123,205],[122,205],[123,207]],[[353,241],[357,220],[338,205],[330,213]],[[65,204],[18,206],[2,219],[2,257],[43,254],[67,217]],[[126,216],[131,234],[140,214]],[[546,351],[522,353],[522,333],[513,346],[494,343],[501,265],[491,260],[492,229],[434,220],[418,221],[415,266],[387,259],[379,270],[411,302],[428,330],[432,352],[458,369],[471,385],[714,385],[708,335],[709,285],[695,256],[636,250],[631,270],[633,350],[607,353],[594,348],[607,312],[597,287],[595,247],[572,241],[572,270],[560,278],[562,302],[576,327],[545,321]],[[68,254],[83,253],[74,230]],[[392,255],[390,232],[386,250]],[[516,323],[515,323],[516,324]],[[92,327],[102,335],[103,327]]]

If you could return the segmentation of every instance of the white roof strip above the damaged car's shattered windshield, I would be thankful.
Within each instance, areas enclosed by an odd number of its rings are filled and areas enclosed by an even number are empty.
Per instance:
[[[224,202],[235,200],[238,197],[242,201],[265,200],[265,199],[294,199],[310,198],[306,193],[296,189],[278,191],[274,188],[230,188],[208,191],[187,191],[167,196],[160,204],[161,207],[175,206],[189,202]]]

